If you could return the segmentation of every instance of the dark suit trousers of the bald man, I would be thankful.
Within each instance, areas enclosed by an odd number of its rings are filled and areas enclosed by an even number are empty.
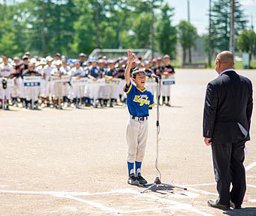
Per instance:
[[[212,160],[217,182],[218,200],[221,205],[230,206],[230,201],[242,205],[245,196],[245,139],[240,142],[212,142]],[[230,191],[230,184],[232,189]]]

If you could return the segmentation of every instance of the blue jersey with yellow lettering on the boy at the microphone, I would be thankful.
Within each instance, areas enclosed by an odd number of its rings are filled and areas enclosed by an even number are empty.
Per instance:
[[[147,89],[138,89],[132,82],[130,86],[124,86],[123,92],[126,93],[127,107],[130,115],[136,117],[148,116],[148,110],[154,107],[154,97],[153,94]]]

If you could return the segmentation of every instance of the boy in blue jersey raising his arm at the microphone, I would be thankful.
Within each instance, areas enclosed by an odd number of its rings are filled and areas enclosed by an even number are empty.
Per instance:
[[[127,166],[128,184],[138,185],[148,182],[142,177],[142,160],[148,139],[148,110],[154,107],[154,98],[151,92],[145,89],[146,74],[143,69],[135,70],[132,74],[133,84],[130,80],[130,69],[135,56],[128,50],[128,65],[125,70],[125,81],[123,91],[127,95],[127,107],[130,113],[126,125],[126,142],[128,145]],[[135,169],[134,169],[135,163]]]

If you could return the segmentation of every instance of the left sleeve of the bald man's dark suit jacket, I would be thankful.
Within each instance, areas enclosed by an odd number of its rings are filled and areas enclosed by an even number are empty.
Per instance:
[[[203,137],[212,138],[217,105],[218,95],[215,86],[209,83],[206,89],[206,100],[203,111]]]

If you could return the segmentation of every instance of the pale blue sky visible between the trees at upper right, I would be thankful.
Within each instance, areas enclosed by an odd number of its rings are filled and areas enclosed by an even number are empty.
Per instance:
[[[209,0],[189,0],[190,1],[190,23],[197,28],[197,33],[206,34],[209,26]],[[212,0],[214,1],[214,0]],[[180,20],[187,20],[187,0],[166,0],[169,6],[175,7],[173,25],[177,25]],[[253,16],[254,31],[256,29],[256,0],[239,0],[244,13],[248,16],[251,26],[251,16]]]

